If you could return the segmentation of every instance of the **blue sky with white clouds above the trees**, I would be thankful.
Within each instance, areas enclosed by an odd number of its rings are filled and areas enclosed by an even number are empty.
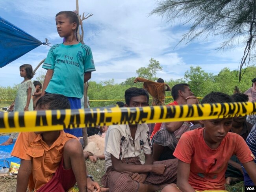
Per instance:
[[[80,14],[94,14],[83,21],[84,42],[91,46],[96,66],[92,81],[113,78],[115,83],[121,83],[126,78],[136,76],[136,70],[147,66],[151,57],[163,66],[163,71],[157,76],[165,81],[182,78],[190,66],[199,65],[213,74],[225,66],[231,70],[237,69],[243,54],[242,47],[219,52],[215,49],[223,39],[211,36],[206,40],[198,39],[176,46],[187,26],[180,26],[175,21],[166,23],[158,16],[148,17],[154,6],[156,0],[79,1]],[[49,39],[52,45],[63,41],[56,31],[55,15],[59,11],[75,9],[75,0],[0,1],[0,17],[42,42],[45,38]],[[48,50],[48,46],[41,45],[0,68],[0,86],[20,83],[23,79],[19,76],[19,66],[29,63],[35,68],[46,57]],[[37,75],[45,72],[40,67]]]

